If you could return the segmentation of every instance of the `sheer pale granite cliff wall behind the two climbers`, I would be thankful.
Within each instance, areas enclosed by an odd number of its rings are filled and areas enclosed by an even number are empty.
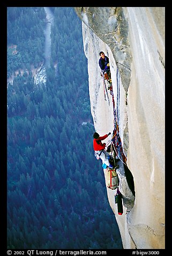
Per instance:
[[[109,91],[104,100],[98,64],[100,51],[109,56],[119,132],[136,193],[120,164],[122,216],[114,202],[116,191],[107,188],[107,193],[123,246],[164,248],[164,8],[74,9],[83,20],[91,111],[101,135],[114,130],[113,103]],[[126,208],[130,212],[125,215]]]

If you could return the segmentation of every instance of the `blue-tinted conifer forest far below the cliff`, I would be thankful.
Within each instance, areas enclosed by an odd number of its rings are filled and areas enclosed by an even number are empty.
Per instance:
[[[35,86],[46,13],[7,9],[8,78],[19,70],[8,84],[8,248],[123,248],[94,157],[81,20],[73,8],[51,11],[50,68]]]

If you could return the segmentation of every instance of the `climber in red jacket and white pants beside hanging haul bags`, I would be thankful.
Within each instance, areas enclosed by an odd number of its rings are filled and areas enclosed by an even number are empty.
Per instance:
[[[101,140],[106,139],[111,133],[105,134],[104,136],[99,136],[99,133],[94,132],[93,134],[93,148],[95,151],[95,154],[97,156],[97,159],[101,159],[103,163],[105,163],[107,166],[113,168],[113,166],[109,163],[109,154],[104,150],[106,147],[106,143],[101,142]]]

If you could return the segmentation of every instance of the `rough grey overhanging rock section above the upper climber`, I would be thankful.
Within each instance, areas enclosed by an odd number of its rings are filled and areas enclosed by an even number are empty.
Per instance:
[[[128,41],[129,24],[122,7],[76,7],[79,17],[105,42],[115,56],[125,90],[130,84],[132,56]]]

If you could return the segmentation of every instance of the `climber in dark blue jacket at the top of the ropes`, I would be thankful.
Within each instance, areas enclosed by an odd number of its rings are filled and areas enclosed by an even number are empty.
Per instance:
[[[99,53],[99,66],[101,68],[101,76],[104,80],[108,81],[108,90],[111,90],[111,74],[110,74],[110,67],[109,67],[109,58],[105,56],[103,52]]]

